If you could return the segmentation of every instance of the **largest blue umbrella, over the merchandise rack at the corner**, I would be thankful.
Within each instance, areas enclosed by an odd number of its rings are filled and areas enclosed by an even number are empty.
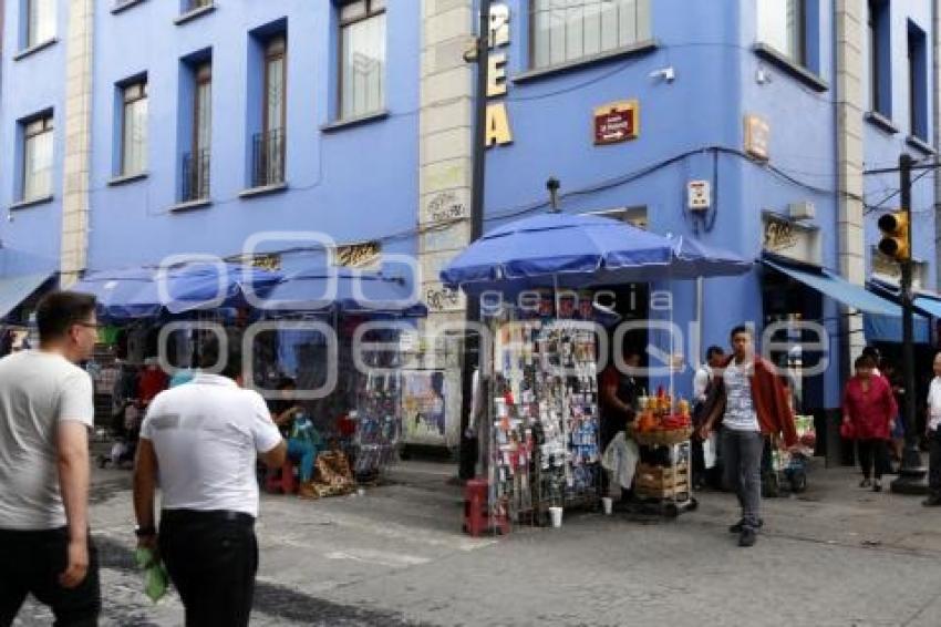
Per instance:
[[[749,267],[731,253],[623,222],[540,214],[488,233],[455,257],[441,277],[448,286],[479,292],[735,275]]]

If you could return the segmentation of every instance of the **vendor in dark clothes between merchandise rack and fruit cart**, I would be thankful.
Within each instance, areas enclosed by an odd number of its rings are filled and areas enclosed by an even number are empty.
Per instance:
[[[640,395],[640,383],[634,374],[640,368],[640,353],[637,350],[624,347],[624,363],[628,369],[621,372],[616,360],[608,364],[601,372],[599,392],[601,409],[601,451],[614,436],[627,430],[629,422],[637,415],[637,401]],[[622,498],[630,498],[630,490],[622,486]],[[608,494],[608,474],[601,474],[601,494]]]

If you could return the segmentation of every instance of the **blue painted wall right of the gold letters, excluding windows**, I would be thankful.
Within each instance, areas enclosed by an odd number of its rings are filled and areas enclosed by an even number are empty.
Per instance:
[[[823,91],[755,53],[753,47],[759,39],[756,2],[734,0],[656,0],[651,3],[651,34],[658,43],[653,52],[514,83],[513,78],[530,66],[529,14],[523,0],[508,4],[514,38],[509,93],[494,102],[507,103],[514,143],[489,152],[488,227],[546,201],[545,182],[557,176],[562,194],[569,194],[563,197],[563,210],[645,206],[654,232],[696,236],[756,258],[763,247],[762,213],[787,215],[788,204],[811,202],[816,218],[807,224],[819,229],[823,265],[838,270],[831,0],[807,3],[809,37],[815,40],[808,64],[827,83]],[[892,4],[892,29],[899,32],[892,41],[897,66],[893,89],[897,102],[902,102],[907,80],[899,73],[904,63],[904,54],[899,52],[904,43],[899,38],[911,19],[931,40],[930,3]],[[675,70],[673,83],[651,78],[652,72],[668,66]],[[759,70],[771,75],[769,82],[757,80]],[[640,101],[640,137],[614,146],[592,145],[593,107],[625,99]],[[771,126],[769,165],[774,171],[735,154],[744,145],[746,114],[759,115]],[[904,147],[903,138],[887,142],[873,135],[868,129],[867,163],[891,162]],[[723,150],[689,154],[710,146]],[[641,174],[680,155],[686,156]],[[621,183],[611,184],[618,178]],[[713,182],[714,215],[709,227],[685,208],[685,185],[693,178]],[[916,207],[930,205],[930,181],[926,177],[917,187]],[[868,181],[867,194],[879,186],[879,182]],[[918,235],[916,253],[924,259],[933,258],[931,219],[930,214],[919,217],[923,220],[919,226],[924,228]],[[875,224],[875,214],[869,220]],[[931,280],[933,276],[932,269]],[[701,345],[687,347],[699,349],[687,352],[691,359],[710,343],[727,345],[728,329],[735,323],[755,321],[761,330],[764,322],[759,270],[737,279],[710,279],[705,292],[704,332]],[[685,329],[694,319],[694,289],[692,285],[676,286],[674,295],[674,318]],[[824,299],[823,317],[834,320],[837,316],[837,306]],[[827,327],[835,335],[824,395],[827,407],[836,407],[840,388],[838,328],[833,322]],[[680,378],[679,386],[689,387],[689,382],[690,371]]]

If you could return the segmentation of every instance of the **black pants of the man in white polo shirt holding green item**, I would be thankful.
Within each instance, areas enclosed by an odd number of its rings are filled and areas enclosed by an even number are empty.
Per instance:
[[[248,625],[258,572],[255,518],[165,510],[159,551],[186,608],[187,627]]]

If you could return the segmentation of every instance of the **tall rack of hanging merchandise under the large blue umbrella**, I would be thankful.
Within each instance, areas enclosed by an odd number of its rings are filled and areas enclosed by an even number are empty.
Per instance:
[[[492,320],[495,377],[490,441],[492,514],[513,523],[547,522],[549,507],[598,500],[598,388],[590,310],[551,292],[534,310],[506,309]]]

